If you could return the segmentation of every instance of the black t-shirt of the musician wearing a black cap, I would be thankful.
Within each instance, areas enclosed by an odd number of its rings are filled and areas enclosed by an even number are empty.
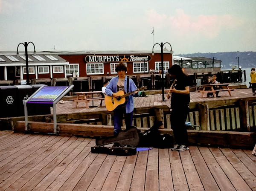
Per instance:
[[[189,78],[186,75],[177,78],[177,81],[174,84],[176,90],[185,90],[185,87],[187,86],[189,86]],[[185,106],[189,104],[189,102],[189,94],[172,93],[171,108]]]

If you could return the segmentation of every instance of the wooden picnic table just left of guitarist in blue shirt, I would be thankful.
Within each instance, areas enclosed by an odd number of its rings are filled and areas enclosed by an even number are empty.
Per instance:
[[[104,99],[104,96],[93,97],[93,94],[102,94],[102,91],[75,92],[74,94],[76,94],[77,96],[76,99],[73,100],[74,102],[76,102],[76,108],[77,108],[78,102],[85,102],[86,107],[89,108],[88,106],[89,101],[101,100],[101,104],[102,104],[102,100]],[[97,106],[94,106],[93,104],[90,107],[97,107]]]

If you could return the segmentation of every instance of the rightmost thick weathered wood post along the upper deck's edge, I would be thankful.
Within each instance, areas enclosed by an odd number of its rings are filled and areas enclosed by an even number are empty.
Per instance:
[[[241,128],[250,131],[249,103],[246,100],[239,99],[238,104]]]

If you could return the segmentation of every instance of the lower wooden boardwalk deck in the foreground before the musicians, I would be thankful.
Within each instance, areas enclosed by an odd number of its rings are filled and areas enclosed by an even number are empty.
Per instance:
[[[0,131],[0,190],[256,190],[250,150],[190,146],[112,156],[91,153],[93,145],[89,138]]]

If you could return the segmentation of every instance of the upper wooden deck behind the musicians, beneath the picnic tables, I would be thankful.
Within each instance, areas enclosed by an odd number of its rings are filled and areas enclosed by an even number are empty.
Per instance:
[[[238,99],[238,98],[250,98],[250,97],[256,97],[253,96],[251,89],[237,89],[234,90],[232,93],[232,96],[229,96],[228,92],[221,92],[219,93],[219,98],[201,98],[201,93],[198,92],[191,92],[190,93],[190,101],[191,102],[202,102],[202,101],[217,101],[217,100],[227,100],[227,99]],[[205,95],[206,96],[206,95]],[[166,98],[162,102],[162,95],[152,95],[147,97],[135,97],[134,98],[134,107],[149,107],[149,106],[157,106],[157,105],[168,105],[170,107],[170,100]],[[94,106],[99,106],[100,101],[94,101]],[[92,101],[89,102],[89,106],[92,106]],[[105,102],[103,100],[102,103],[103,107],[90,107],[86,108],[85,103],[80,102],[78,104],[78,107],[76,108],[76,103],[69,101],[64,102],[64,104],[57,104],[57,114],[65,114],[65,113],[83,113],[83,112],[92,112],[92,111],[104,111],[105,108]]]

